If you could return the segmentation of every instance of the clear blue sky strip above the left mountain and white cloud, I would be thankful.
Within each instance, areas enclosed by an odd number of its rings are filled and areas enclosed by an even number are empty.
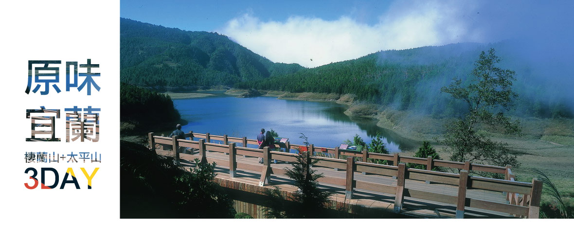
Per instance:
[[[134,1],[120,2],[121,17],[192,31],[214,32],[245,13],[263,21],[290,16],[336,20],[342,15],[376,24],[391,1]]]

